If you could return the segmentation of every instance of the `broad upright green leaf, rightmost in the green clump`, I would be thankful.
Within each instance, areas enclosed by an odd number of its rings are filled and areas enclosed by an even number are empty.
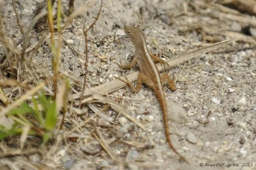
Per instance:
[[[51,131],[56,126],[57,122],[57,109],[56,101],[49,104],[49,108],[45,115],[45,129]]]

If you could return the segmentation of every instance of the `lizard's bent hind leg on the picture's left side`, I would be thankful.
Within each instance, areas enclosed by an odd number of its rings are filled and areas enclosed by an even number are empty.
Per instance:
[[[135,87],[132,85],[131,82],[129,82],[127,80],[126,77],[125,77],[126,81],[122,80],[120,78],[118,78],[118,79],[121,80],[121,81],[124,81],[125,83],[127,83],[127,85],[129,85],[129,87],[131,88],[132,92],[134,92],[134,93],[137,93],[137,92],[140,91],[142,82],[144,82],[146,85],[148,85],[148,87],[150,87],[151,89],[154,89],[154,87],[155,87],[154,81],[150,80],[150,78],[148,78],[148,76],[143,74],[143,73],[139,73],[138,74],[137,83],[136,83]]]

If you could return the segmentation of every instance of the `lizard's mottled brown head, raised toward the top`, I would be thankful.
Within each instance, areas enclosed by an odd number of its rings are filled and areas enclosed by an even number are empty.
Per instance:
[[[137,46],[137,43],[140,43],[141,36],[144,38],[144,34],[138,26],[125,25],[124,32],[127,34],[134,46]]]

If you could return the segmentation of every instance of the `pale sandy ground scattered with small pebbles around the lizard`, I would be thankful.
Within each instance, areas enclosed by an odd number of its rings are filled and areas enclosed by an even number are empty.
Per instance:
[[[29,0],[17,3],[24,27],[33,17],[37,3]],[[76,1],[75,7],[83,3]],[[150,52],[162,53],[170,58],[214,43],[204,41],[205,36],[209,35],[205,31],[206,27],[216,31],[211,36],[223,41],[228,37],[221,32],[232,31],[234,23],[246,26],[244,22],[214,17],[220,11],[204,9],[199,5],[197,8],[202,13],[187,6],[188,13],[184,15],[183,4],[183,1],[175,0],[104,0],[100,18],[89,34],[88,88],[138,71],[138,67],[126,71],[118,66],[118,63],[131,61],[134,54],[134,47],[122,32],[124,25],[140,25],[147,36]],[[90,13],[86,13],[87,24],[95,18],[98,9],[99,4],[95,3]],[[1,12],[4,14],[6,34],[18,41],[21,34],[15,22],[12,3],[5,1]],[[253,18],[250,15],[248,17]],[[83,53],[82,17],[72,22],[63,32],[63,37],[77,52]],[[31,39],[31,43],[33,41],[37,41],[36,36]],[[146,86],[138,94],[132,94],[125,87],[113,92],[110,99],[120,99],[120,104],[127,108],[127,112],[151,131],[146,134],[134,127],[123,140],[148,143],[149,139],[154,143],[153,148],[140,150],[122,140],[116,140],[110,146],[119,161],[113,162],[104,150],[95,155],[81,152],[81,148],[86,145],[84,143],[93,138],[87,136],[79,143],[63,143],[50,158],[49,155],[40,157],[33,154],[2,158],[0,163],[10,169],[33,169],[40,166],[45,169],[256,169],[256,57],[255,49],[250,47],[252,43],[248,41],[237,41],[191,59],[185,66],[180,64],[166,71],[177,80],[179,88],[176,92],[171,92],[167,87],[164,90],[173,145],[188,159],[190,165],[180,162],[166,143],[161,108],[154,92]],[[61,54],[61,73],[82,83],[81,59],[67,45],[63,45]],[[40,47],[33,61],[51,71],[51,53],[47,43]],[[36,83],[36,80],[30,83]],[[75,89],[81,90],[77,87]],[[93,113],[90,111],[90,114]],[[114,111],[108,114],[112,114],[114,120],[118,116]],[[71,113],[67,115],[67,121],[69,117]],[[83,118],[78,121],[82,122]],[[84,127],[85,134],[89,131],[90,128]],[[105,138],[110,140],[111,133],[104,132]],[[238,166],[233,167],[235,164]]]

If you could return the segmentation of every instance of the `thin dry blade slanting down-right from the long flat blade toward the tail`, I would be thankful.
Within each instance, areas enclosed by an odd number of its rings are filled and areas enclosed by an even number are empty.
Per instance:
[[[110,101],[108,98],[94,94],[93,95],[94,99],[98,99],[99,101],[102,101],[102,103],[108,103],[110,105],[111,108],[113,108],[113,110],[115,110],[117,113],[120,113],[121,115],[123,115],[124,117],[128,118],[129,120],[131,120],[131,122],[133,122],[134,124],[138,125],[138,127],[140,127],[141,129],[143,129],[144,131],[150,131],[150,129],[147,129],[143,124],[141,124],[138,120],[136,120],[135,118],[131,117],[126,111],[125,108],[123,108],[122,106],[120,106],[120,104],[114,102],[114,101]]]

